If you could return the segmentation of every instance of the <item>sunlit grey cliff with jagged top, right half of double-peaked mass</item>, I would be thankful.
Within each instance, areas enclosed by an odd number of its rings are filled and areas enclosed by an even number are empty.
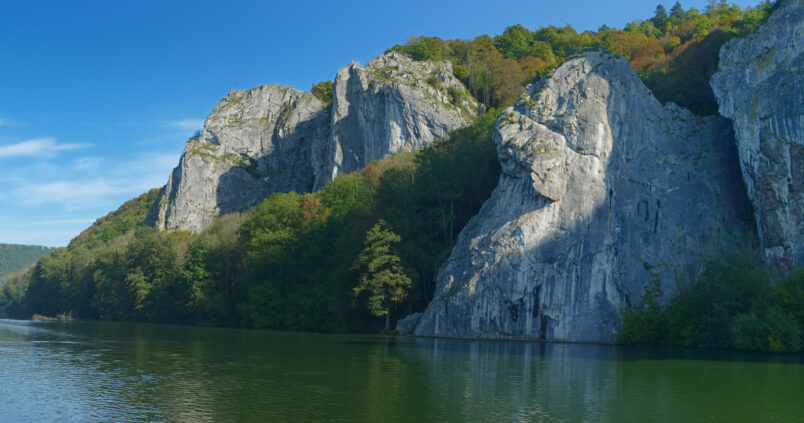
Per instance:
[[[316,188],[381,157],[421,149],[469,124],[477,103],[449,62],[416,62],[397,53],[335,77],[332,139]]]

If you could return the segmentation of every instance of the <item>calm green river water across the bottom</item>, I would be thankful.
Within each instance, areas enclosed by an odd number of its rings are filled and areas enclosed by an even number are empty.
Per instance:
[[[801,356],[0,320],[0,422],[801,422]]]

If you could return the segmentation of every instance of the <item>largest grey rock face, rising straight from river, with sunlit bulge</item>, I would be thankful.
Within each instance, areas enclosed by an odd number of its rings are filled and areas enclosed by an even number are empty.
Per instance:
[[[662,106],[590,52],[497,121],[499,184],[439,273],[418,335],[606,342],[750,226],[727,120]]]

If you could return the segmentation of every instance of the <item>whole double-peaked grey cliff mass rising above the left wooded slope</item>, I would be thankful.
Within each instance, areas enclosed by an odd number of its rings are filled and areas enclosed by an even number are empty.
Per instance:
[[[199,232],[274,192],[310,192],[372,160],[426,147],[469,124],[477,108],[449,63],[396,53],[341,69],[334,91],[332,110],[290,87],[232,91],[187,143],[146,223]]]

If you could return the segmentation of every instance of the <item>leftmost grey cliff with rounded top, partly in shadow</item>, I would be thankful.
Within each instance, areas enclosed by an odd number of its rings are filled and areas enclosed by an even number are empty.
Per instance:
[[[201,137],[185,146],[146,223],[199,232],[215,216],[245,210],[271,193],[310,191],[313,146],[326,142],[328,122],[321,102],[295,88],[232,91]]]

